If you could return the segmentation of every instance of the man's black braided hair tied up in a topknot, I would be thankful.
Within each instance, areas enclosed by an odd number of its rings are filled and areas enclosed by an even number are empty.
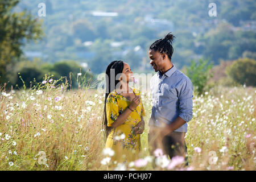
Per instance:
[[[172,41],[174,40],[174,38],[175,36],[170,32],[164,37],[164,39],[159,39],[152,43],[150,49],[153,49],[154,51],[159,51],[160,53],[166,53],[171,60],[172,53],[174,53],[174,48],[172,47]]]

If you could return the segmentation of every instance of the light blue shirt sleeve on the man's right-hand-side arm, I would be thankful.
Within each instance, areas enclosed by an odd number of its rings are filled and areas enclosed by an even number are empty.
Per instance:
[[[189,78],[187,78],[179,88],[179,117],[184,119],[185,122],[189,122],[193,116],[193,84]]]

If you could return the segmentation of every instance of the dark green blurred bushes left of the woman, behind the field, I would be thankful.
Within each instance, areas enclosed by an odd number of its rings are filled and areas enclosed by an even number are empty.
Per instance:
[[[77,73],[82,73],[82,75],[77,76]],[[18,86],[18,88],[22,86],[32,87],[37,82],[42,82],[46,75],[51,75],[54,80],[65,77],[69,84],[72,84],[72,88],[78,88],[81,85],[79,81],[82,81],[83,85],[89,85],[95,79],[92,73],[85,72],[76,61],[67,60],[51,64],[35,59],[33,61],[20,61],[16,64],[16,78],[14,79],[15,82],[11,82],[11,84]],[[82,78],[79,79],[79,77]],[[71,89],[70,85],[68,89]]]

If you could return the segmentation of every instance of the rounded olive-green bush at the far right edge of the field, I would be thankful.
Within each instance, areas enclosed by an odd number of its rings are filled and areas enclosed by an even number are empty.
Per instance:
[[[254,59],[241,58],[226,68],[226,74],[241,85],[256,86],[255,70],[256,61]]]

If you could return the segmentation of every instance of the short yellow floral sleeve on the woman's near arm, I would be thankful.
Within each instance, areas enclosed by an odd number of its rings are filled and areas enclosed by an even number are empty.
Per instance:
[[[115,96],[109,94],[106,100],[106,117],[108,118],[108,126],[111,127],[112,123],[117,121],[118,117],[118,104]]]

